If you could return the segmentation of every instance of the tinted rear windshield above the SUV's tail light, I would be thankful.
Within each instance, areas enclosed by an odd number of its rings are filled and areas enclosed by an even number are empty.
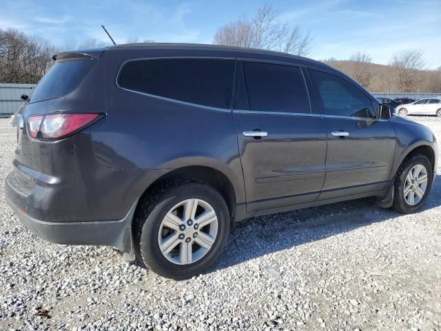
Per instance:
[[[30,96],[30,102],[63,97],[80,85],[96,59],[64,59],[55,61]]]

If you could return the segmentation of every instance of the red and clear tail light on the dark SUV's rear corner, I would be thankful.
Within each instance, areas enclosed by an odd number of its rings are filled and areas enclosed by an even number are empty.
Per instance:
[[[84,130],[103,117],[103,114],[46,114],[28,119],[30,137],[41,140],[57,140]]]

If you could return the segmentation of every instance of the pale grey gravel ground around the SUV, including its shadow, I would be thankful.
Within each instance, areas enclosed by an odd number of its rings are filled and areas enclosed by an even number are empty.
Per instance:
[[[413,119],[441,141],[440,119]],[[1,119],[2,183],[14,146]],[[1,185],[0,330],[441,330],[440,205],[438,177],[418,214],[361,199],[256,217],[214,268],[171,281],[112,248],[35,237]]]

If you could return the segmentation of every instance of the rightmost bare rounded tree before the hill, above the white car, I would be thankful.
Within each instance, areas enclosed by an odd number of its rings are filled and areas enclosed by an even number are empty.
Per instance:
[[[421,50],[402,50],[393,54],[390,65],[395,68],[397,88],[402,92],[412,92],[418,83],[416,72],[425,66]]]

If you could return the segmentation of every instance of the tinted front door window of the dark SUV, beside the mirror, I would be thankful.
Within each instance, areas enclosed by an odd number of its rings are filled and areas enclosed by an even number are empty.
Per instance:
[[[312,70],[322,100],[322,114],[375,118],[372,101],[344,79]]]

